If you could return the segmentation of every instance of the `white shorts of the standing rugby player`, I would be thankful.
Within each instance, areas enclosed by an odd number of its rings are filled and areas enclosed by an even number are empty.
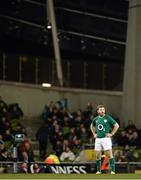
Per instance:
[[[95,139],[95,150],[106,151],[112,149],[112,140],[110,137],[96,138]]]

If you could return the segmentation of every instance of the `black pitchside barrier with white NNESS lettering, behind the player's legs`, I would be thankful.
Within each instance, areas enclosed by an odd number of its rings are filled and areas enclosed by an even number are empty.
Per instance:
[[[28,173],[31,172],[30,167],[37,162],[27,163]],[[0,162],[1,173],[21,173],[23,162]],[[46,165],[43,162],[38,162],[39,167],[43,173],[54,174],[87,174],[96,172],[95,163],[61,163]],[[120,162],[116,163],[117,173],[137,173],[141,171],[141,162]]]

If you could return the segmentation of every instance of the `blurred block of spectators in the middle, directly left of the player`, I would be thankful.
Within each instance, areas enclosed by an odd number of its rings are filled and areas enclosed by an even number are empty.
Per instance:
[[[36,133],[40,145],[40,157],[45,158],[48,141],[52,150],[62,161],[75,159],[75,154],[83,144],[93,141],[90,132],[93,107],[88,104],[86,110],[78,109],[70,113],[61,103],[50,102],[41,115],[42,126]]]

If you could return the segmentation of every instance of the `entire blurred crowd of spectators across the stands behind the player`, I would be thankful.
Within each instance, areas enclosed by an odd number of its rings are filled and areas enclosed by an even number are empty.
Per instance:
[[[92,103],[88,103],[84,110],[77,109],[76,112],[70,112],[60,101],[45,105],[41,114],[41,126],[35,135],[39,142],[40,160],[44,161],[49,155],[48,148],[51,145],[51,153],[59,161],[74,161],[84,145],[94,143],[90,124],[95,115]],[[8,105],[0,97],[0,161],[13,161],[16,158],[23,162],[21,167],[26,169],[28,162],[34,162],[34,151],[26,128],[21,123],[23,116],[24,113],[17,103]],[[120,120],[115,119],[120,124]],[[15,144],[16,134],[24,134],[24,141]],[[141,129],[131,120],[125,128],[120,128],[113,141],[117,162],[138,161],[141,154]],[[15,146],[17,156],[14,155]]]

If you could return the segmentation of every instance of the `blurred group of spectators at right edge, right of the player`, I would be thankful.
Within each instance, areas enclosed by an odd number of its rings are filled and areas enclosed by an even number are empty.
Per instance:
[[[141,159],[141,129],[132,120],[121,129],[117,136],[118,148],[115,150],[117,162],[133,162]]]

